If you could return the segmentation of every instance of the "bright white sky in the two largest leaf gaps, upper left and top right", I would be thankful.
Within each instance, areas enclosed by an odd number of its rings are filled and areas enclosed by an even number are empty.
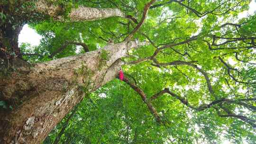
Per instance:
[[[250,8],[248,10],[238,14],[239,19],[247,17],[248,14],[253,14],[254,11],[256,11],[256,0],[252,0],[249,4],[249,7]],[[31,45],[39,45],[41,38],[42,36],[38,35],[34,29],[28,27],[26,24],[18,36],[18,44],[20,45],[21,43],[29,43]]]

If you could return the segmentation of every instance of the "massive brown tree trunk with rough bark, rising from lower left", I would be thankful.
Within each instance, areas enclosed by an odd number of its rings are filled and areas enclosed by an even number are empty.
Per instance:
[[[103,49],[36,64],[0,79],[1,99],[22,101],[0,112],[0,144],[39,144],[88,92],[116,78],[119,58],[145,43],[124,41]],[[106,56],[107,55],[107,56]]]

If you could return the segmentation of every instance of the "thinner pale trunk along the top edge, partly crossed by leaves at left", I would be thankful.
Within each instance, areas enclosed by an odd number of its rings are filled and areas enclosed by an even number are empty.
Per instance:
[[[55,6],[46,0],[38,0],[36,3],[37,11],[52,16],[56,20],[64,20],[59,13],[63,13],[65,9],[61,6]],[[125,14],[119,9],[97,9],[79,6],[71,9],[68,18],[71,21],[91,21],[109,17],[125,17]]]

